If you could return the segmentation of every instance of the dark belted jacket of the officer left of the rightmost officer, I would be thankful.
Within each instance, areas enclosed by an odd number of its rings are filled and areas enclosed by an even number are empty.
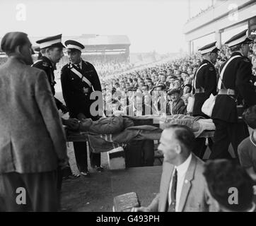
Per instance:
[[[206,65],[202,66],[203,64]],[[206,114],[204,114],[201,109],[205,100],[209,98],[211,93],[213,95],[216,95],[216,70],[214,65],[206,59],[202,61],[202,64],[200,64],[200,66],[202,66],[202,68],[197,72],[197,77],[195,78],[195,87],[204,88],[204,93],[194,94],[193,116],[207,117]]]

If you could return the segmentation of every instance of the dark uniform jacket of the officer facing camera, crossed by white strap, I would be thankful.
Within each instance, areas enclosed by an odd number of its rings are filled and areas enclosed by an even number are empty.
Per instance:
[[[71,71],[71,67],[74,65],[66,64],[62,68],[61,81],[62,81],[62,93],[66,106],[69,109],[69,114],[71,117],[76,118],[79,113],[83,113],[88,118],[98,119],[98,117],[93,117],[90,112],[91,104],[95,100],[90,100],[90,95],[94,91],[102,91],[100,85],[100,79],[93,66],[86,61],[82,62],[82,69],[78,69],[84,77],[91,82],[92,87],[79,78],[76,73]],[[103,98],[101,96],[101,98]]]

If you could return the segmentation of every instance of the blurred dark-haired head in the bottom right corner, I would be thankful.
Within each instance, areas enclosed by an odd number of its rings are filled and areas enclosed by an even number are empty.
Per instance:
[[[230,160],[211,160],[206,162],[203,174],[211,196],[221,206],[233,211],[252,207],[253,182],[243,167]],[[237,189],[238,203],[230,203],[231,189]]]

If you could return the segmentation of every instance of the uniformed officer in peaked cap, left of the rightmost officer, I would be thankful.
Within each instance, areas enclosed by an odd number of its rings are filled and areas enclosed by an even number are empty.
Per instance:
[[[216,47],[216,42],[212,42],[200,48],[199,51],[202,54],[203,61],[194,76],[194,107],[192,115],[209,118],[201,109],[204,101],[211,94],[216,95],[217,78],[214,64],[216,63],[219,49]],[[206,138],[196,138],[194,153],[200,158],[204,157],[205,141]],[[209,147],[211,148],[212,145],[213,141],[209,138]]]

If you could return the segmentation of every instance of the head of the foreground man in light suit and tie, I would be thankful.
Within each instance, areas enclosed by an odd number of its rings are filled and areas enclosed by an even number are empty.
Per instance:
[[[163,153],[165,162],[178,166],[192,152],[194,139],[194,133],[187,126],[170,125],[161,134],[158,150]]]

